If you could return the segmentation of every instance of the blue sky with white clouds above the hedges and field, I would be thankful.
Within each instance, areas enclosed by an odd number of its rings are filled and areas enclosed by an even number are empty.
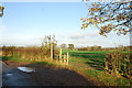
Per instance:
[[[105,37],[95,26],[81,30],[80,19],[88,12],[84,2],[3,2],[2,6],[6,9],[0,18],[0,46],[41,45],[45,35],[53,34],[58,45],[130,45],[130,35],[118,36],[112,32]]]

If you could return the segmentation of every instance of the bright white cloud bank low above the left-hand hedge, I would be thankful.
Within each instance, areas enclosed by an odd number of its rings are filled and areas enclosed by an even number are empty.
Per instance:
[[[0,24],[0,45],[36,45],[41,42],[33,29],[24,29],[22,32],[9,32],[8,29]]]

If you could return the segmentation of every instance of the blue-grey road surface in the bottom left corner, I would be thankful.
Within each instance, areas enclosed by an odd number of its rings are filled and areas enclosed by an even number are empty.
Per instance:
[[[31,74],[22,73],[16,67],[10,67],[0,58],[0,86],[38,86]]]

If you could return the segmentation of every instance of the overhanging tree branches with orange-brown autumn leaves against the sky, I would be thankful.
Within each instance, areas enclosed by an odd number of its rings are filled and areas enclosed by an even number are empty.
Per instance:
[[[82,30],[95,25],[100,35],[107,36],[111,31],[119,35],[132,33],[132,1],[91,3],[88,16],[80,20]]]

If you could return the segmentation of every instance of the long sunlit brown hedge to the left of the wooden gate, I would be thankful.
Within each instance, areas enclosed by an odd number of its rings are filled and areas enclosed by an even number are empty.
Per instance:
[[[57,50],[54,50],[54,54],[58,54]],[[43,62],[50,61],[51,48],[3,46],[2,56],[21,57],[22,59]]]

